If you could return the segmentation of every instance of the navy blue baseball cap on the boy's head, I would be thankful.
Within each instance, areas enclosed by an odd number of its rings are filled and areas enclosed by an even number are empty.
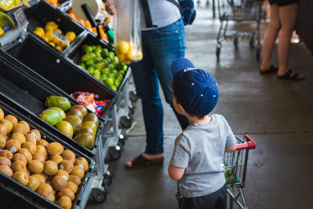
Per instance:
[[[218,85],[214,76],[195,68],[186,58],[179,58],[171,66],[173,91],[177,101],[190,115],[208,115],[218,102]]]

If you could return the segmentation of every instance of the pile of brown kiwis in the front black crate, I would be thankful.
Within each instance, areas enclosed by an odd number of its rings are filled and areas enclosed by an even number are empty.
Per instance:
[[[0,172],[69,209],[88,168],[85,158],[41,139],[38,130],[13,115],[4,117],[0,108]]]

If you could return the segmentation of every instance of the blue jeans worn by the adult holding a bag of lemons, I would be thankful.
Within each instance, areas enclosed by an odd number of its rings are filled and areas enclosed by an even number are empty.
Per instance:
[[[141,32],[143,59],[131,64],[136,92],[142,101],[146,128],[146,154],[163,153],[163,107],[159,81],[167,103],[171,105],[182,127],[187,128],[188,119],[178,114],[173,106],[171,65],[184,57],[186,37],[182,20],[168,26]]]

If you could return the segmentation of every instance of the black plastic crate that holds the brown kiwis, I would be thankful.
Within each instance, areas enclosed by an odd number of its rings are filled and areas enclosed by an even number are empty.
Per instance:
[[[0,93],[0,107],[4,114],[14,115],[19,121],[26,121],[31,129],[37,129],[42,138],[49,143],[59,142],[64,146],[64,149],[70,149],[77,157],[84,157],[89,164],[89,169],[85,172],[85,176],[81,180],[81,184],[78,187],[78,192],[75,194],[75,198],[72,203],[72,209],[79,208],[80,202],[83,199],[83,192],[87,181],[90,178],[91,172],[95,166],[95,161],[90,159],[87,155],[78,151],[74,147],[59,139],[56,135],[50,133],[47,129],[47,124],[33,114],[28,112],[23,107],[20,107],[15,102],[10,100],[8,97],[3,96]],[[7,175],[0,172],[0,201],[2,202],[1,208],[60,208],[55,203],[47,200],[45,197],[39,195],[35,191],[32,191],[27,186],[20,184],[18,181],[8,177]]]

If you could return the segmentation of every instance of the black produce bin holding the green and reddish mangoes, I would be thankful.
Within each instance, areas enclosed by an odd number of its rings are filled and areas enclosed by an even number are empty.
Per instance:
[[[55,86],[37,80],[31,76],[31,74],[23,71],[22,68],[14,65],[2,56],[0,56],[0,92],[17,102],[22,107],[25,107],[29,112],[32,112],[36,116],[47,108],[45,106],[45,100],[51,95],[67,97],[71,102],[71,106],[79,104],[65,93],[59,94],[60,91],[58,91]],[[90,113],[91,111],[88,112]],[[80,145],[74,139],[67,137],[48,123],[47,125],[49,126],[48,130],[51,133],[55,133],[55,135],[62,140],[77,147],[81,152],[92,157],[95,155],[98,142],[101,139],[104,123],[105,121],[101,118],[99,120],[99,127],[95,135],[95,144],[92,150]]]

